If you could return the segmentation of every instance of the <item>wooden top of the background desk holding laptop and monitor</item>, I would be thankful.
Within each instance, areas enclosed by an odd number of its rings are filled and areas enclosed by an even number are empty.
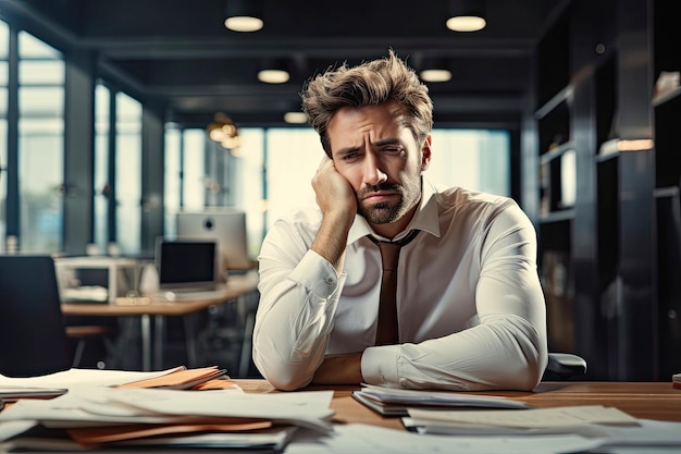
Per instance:
[[[258,277],[253,273],[232,275],[225,289],[214,297],[193,300],[171,302],[152,299],[150,304],[117,305],[107,303],[62,303],[62,312],[66,316],[184,316],[205,309],[213,304],[224,303],[258,289]]]

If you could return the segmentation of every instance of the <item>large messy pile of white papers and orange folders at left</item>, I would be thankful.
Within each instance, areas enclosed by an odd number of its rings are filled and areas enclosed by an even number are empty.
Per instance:
[[[72,369],[50,381],[0,377],[0,385],[40,389],[51,382],[67,390],[50,400],[20,398],[2,410],[0,452],[119,445],[281,450],[298,428],[332,430],[332,391],[246,394],[216,367],[115,372]]]

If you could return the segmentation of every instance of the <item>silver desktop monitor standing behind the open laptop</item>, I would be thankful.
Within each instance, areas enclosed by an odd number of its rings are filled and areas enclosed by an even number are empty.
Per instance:
[[[178,240],[214,240],[221,270],[252,268],[248,255],[246,212],[233,207],[215,207],[177,213]]]

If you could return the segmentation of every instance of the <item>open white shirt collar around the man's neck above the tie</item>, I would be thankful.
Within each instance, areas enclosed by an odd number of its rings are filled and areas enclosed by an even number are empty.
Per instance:
[[[437,197],[436,191],[433,185],[425,179],[421,179],[421,203],[419,209],[404,232],[400,232],[395,240],[399,240],[409,233],[410,230],[422,230],[431,235],[439,237],[439,214],[437,212]],[[382,238],[370,226],[364,218],[359,214],[355,214],[355,221],[348,232],[347,244],[352,244],[359,238],[367,235],[372,235],[377,238]]]

